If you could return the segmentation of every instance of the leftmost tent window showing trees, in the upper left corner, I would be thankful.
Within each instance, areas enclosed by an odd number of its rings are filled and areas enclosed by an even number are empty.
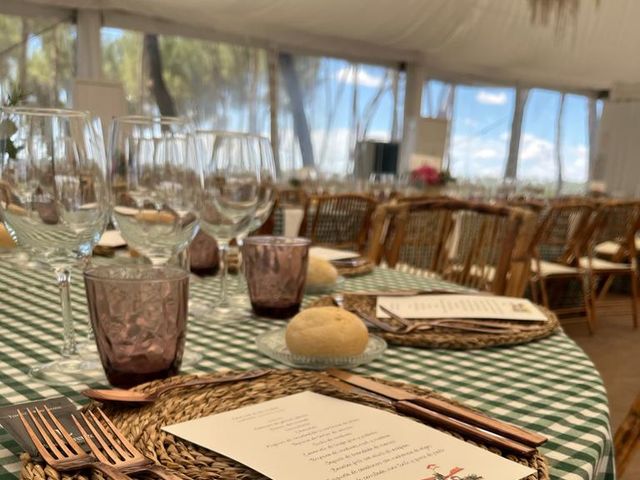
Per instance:
[[[28,103],[70,107],[75,42],[75,25],[69,21],[0,15],[2,97],[19,84]]]

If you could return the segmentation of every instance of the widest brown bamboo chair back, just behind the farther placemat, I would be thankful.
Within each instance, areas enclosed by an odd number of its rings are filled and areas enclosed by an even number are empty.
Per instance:
[[[532,213],[451,199],[383,208],[390,218],[380,257],[390,267],[499,295],[523,294],[535,225]]]

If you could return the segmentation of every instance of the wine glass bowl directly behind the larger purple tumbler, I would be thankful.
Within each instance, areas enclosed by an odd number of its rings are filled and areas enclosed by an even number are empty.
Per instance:
[[[200,171],[190,123],[116,118],[108,157],[114,223],[134,250],[154,265],[166,264],[198,230]]]

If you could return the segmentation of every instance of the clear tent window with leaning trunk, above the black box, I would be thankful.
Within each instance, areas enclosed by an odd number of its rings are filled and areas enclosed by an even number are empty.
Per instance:
[[[402,128],[404,75],[398,70],[335,58],[295,56],[302,102],[292,98],[291,71],[280,59],[280,164],[303,165],[294,112],[301,103],[316,168],[325,175],[352,171],[357,141],[397,140]],[[298,112],[299,113],[299,112]]]

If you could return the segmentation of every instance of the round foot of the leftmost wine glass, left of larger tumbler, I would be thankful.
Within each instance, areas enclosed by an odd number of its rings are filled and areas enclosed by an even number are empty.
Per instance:
[[[107,382],[97,355],[61,357],[53,362],[33,367],[29,375],[47,385],[57,386]]]

